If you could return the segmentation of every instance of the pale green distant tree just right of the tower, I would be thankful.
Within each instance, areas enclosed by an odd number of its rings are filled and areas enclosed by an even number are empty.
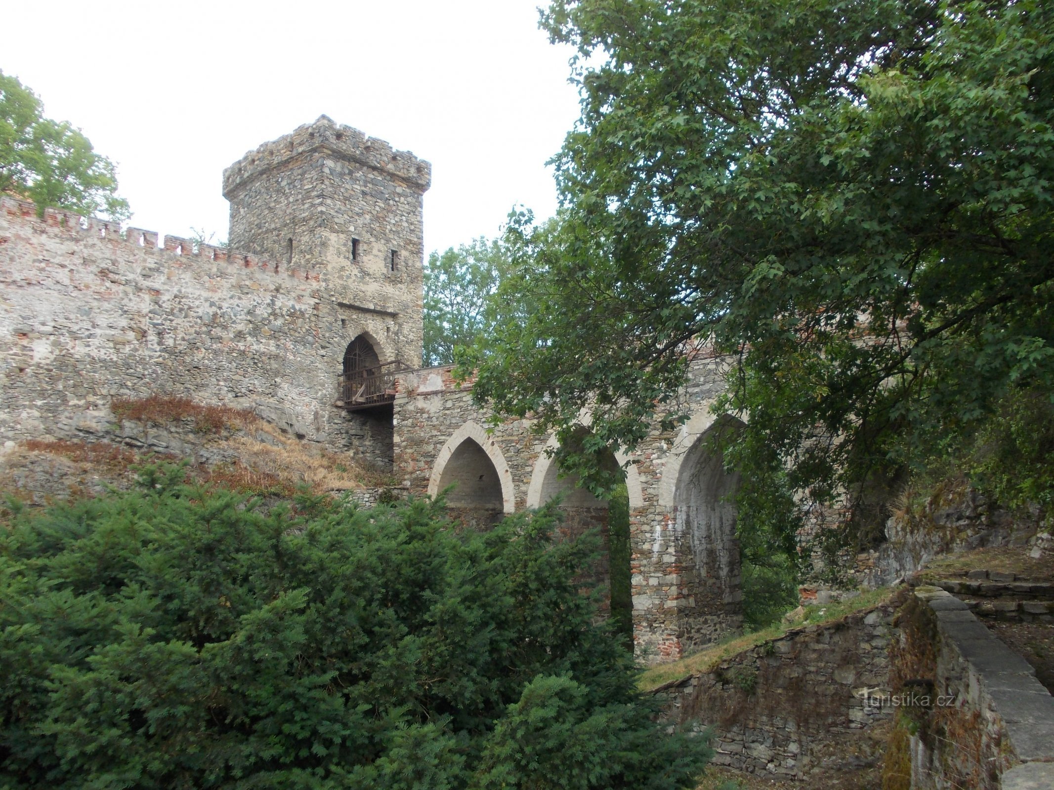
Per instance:
[[[425,364],[449,364],[454,349],[482,341],[488,333],[488,298],[508,271],[507,253],[497,239],[481,237],[425,265]]]

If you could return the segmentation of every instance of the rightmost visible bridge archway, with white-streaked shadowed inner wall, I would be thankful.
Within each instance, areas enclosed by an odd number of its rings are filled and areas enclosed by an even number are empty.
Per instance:
[[[742,427],[727,415],[716,420],[685,453],[677,480],[677,527],[691,550],[682,594],[695,599],[696,613],[683,638],[699,646],[738,629],[743,619],[735,501],[740,476],[725,469],[718,445],[723,433]]]

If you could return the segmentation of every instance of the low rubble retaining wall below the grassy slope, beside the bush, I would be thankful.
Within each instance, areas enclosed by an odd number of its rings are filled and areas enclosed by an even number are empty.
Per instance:
[[[845,733],[891,717],[889,646],[897,604],[807,626],[739,653],[715,669],[668,684],[665,717],[713,727],[714,763],[805,778]]]

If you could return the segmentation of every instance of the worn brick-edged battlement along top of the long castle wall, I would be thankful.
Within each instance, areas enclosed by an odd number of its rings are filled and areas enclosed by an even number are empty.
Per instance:
[[[37,206],[27,200],[19,200],[8,195],[0,196],[0,213],[7,222],[19,222],[32,225],[36,231],[45,233],[59,232],[66,235],[89,238],[92,236],[105,239],[113,243],[126,244],[140,250],[159,253],[165,257],[181,257],[211,262],[228,262],[240,269],[255,269],[264,273],[289,277],[296,280],[315,281],[319,279],[318,272],[308,272],[292,266],[281,266],[270,260],[258,258],[249,253],[228,250],[214,244],[198,244],[192,239],[179,236],[161,236],[157,231],[147,231],[141,228],[128,228],[121,231],[120,223],[99,217],[82,217],[63,209],[44,209],[42,217],[37,216]]]

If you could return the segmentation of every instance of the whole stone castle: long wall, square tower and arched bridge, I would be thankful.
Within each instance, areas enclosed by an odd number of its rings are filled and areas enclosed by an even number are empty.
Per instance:
[[[351,451],[392,469],[411,492],[458,483],[450,505],[480,526],[569,489],[568,529],[603,531],[606,505],[558,478],[546,453],[555,440],[529,420],[488,433],[471,384],[449,369],[402,374],[390,407],[349,413],[334,403],[345,351],[359,335],[380,361],[419,363],[429,180],[427,162],[323,117],[226,171],[232,245],[246,252],[122,234],[53,210],[38,218],[3,198],[0,442],[73,436],[78,421],[105,418],[115,397],[182,395]],[[706,446],[721,428],[709,406],[723,364],[697,355],[681,393],[688,422],[664,432],[657,417],[630,457],[613,454],[627,465],[644,660],[679,657],[741,621],[726,499],[738,479]]]

